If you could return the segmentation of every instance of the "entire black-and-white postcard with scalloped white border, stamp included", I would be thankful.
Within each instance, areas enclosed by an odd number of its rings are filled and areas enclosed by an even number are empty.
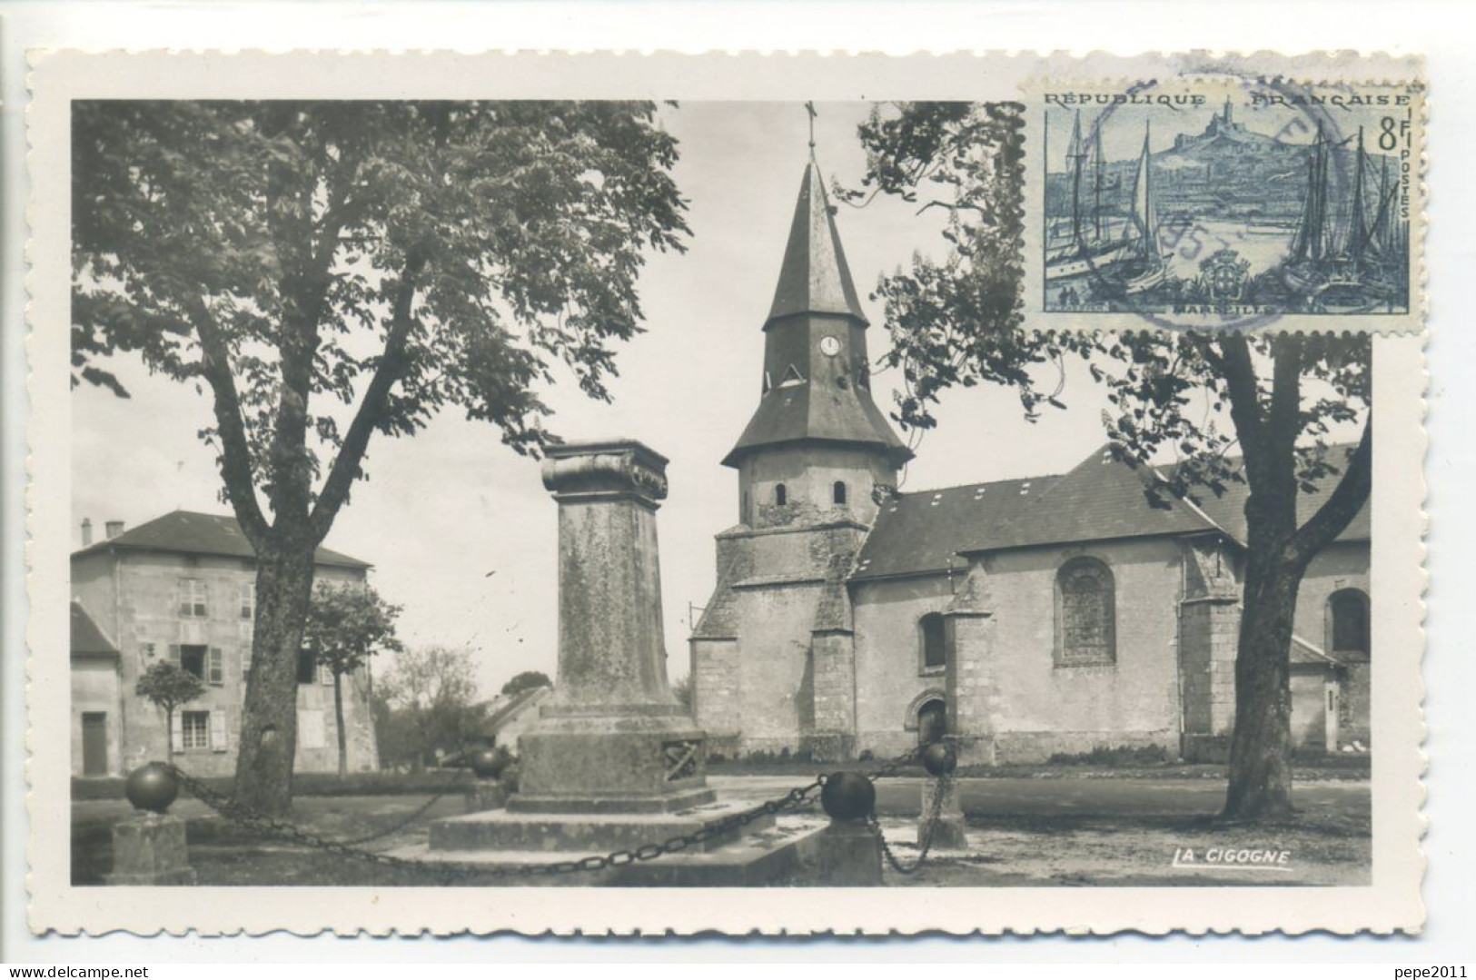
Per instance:
[[[1421,928],[1417,63],[31,90],[34,930]]]

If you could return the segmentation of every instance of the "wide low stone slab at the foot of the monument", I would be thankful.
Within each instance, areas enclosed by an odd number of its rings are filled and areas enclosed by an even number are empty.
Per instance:
[[[701,793],[711,794],[711,790]],[[514,797],[514,801],[518,797]],[[509,801],[511,803],[511,801]],[[562,852],[558,856],[607,855],[633,850],[672,837],[695,834],[738,813],[747,803],[707,803],[677,813],[523,813],[512,809],[452,816],[431,824],[431,852]],[[694,846],[713,850],[744,832],[773,827],[773,816],[760,816]]]

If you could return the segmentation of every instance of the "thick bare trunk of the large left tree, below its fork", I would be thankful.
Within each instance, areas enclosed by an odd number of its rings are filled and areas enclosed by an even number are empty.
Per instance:
[[[251,680],[236,757],[236,801],[273,816],[292,806],[297,658],[313,593],[314,542],[307,534],[292,537],[272,542],[257,556]]]

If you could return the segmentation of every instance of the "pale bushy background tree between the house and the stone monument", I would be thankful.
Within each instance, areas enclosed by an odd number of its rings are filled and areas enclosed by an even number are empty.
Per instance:
[[[478,738],[483,705],[471,651],[428,646],[396,657],[379,682],[384,717],[400,742],[388,756],[409,757],[416,769],[437,750],[463,753]]]

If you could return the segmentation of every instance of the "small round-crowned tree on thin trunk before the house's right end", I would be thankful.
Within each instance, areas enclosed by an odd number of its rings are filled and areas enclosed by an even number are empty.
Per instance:
[[[334,674],[334,719],[338,722],[338,775],[348,775],[348,732],[344,728],[344,674],[365,667],[381,651],[401,649],[394,636],[400,607],[390,605],[368,584],[326,582],[313,589],[303,629],[303,646]]]

